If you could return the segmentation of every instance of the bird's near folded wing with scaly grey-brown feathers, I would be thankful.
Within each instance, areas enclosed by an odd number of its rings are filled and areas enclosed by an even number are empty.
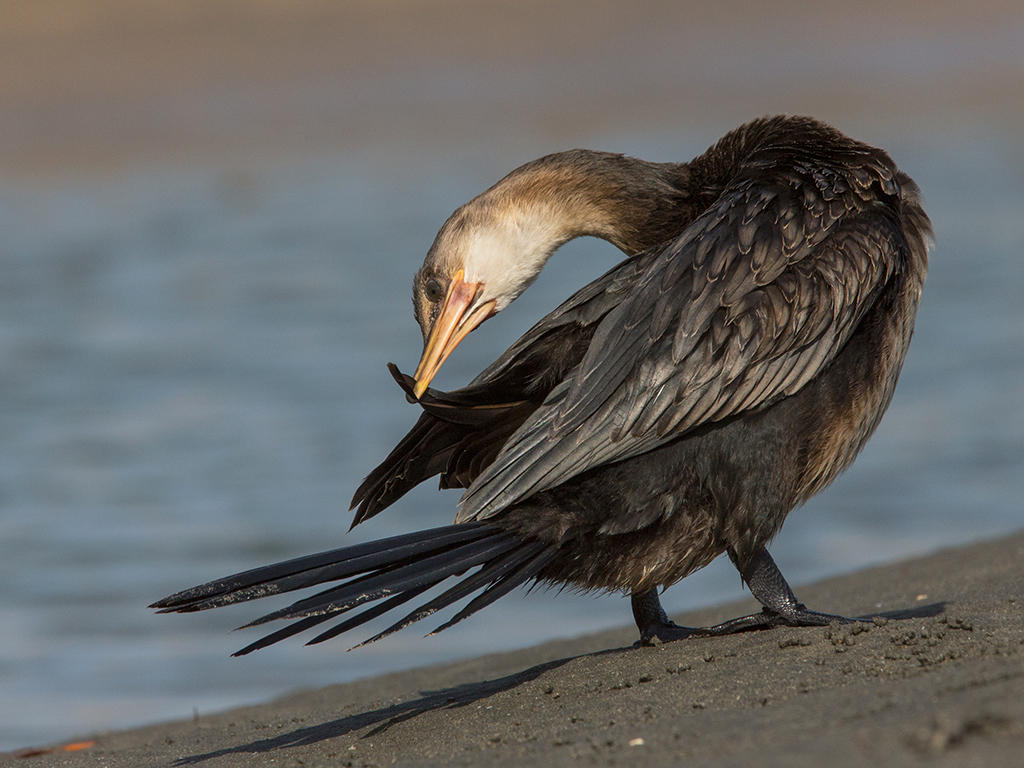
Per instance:
[[[905,244],[886,207],[812,184],[815,196],[806,181],[737,183],[644,254],[633,291],[475,479],[457,521],[768,406],[825,368]]]

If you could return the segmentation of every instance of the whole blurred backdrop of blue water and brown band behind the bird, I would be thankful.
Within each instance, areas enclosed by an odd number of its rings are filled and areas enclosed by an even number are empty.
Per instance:
[[[916,335],[878,433],[793,514],[775,557],[799,585],[1024,522],[1019,13],[982,3],[972,26],[937,4],[921,23],[897,3],[902,26],[885,34],[826,13],[741,26],[737,40],[741,8],[695,25],[695,6],[664,25],[581,11],[584,37],[559,47],[531,27],[541,6],[487,16],[441,3],[459,11],[450,29],[430,26],[432,5],[356,4],[358,24],[335,27],[325,19],[343,11],[317,3],[216,6],[226,26],[187,3],[161,24],[115,2],[97,5],[105,16],[22,19],[25,56],[40,36],[70,41],[93,71],[76,74],[68,54],[71,74],[0,84],[0,749],[630,622],[617,596],[536,592],[433,638],[412,629],[353,654],[292,641],[231,659],[255,635],[227,630],[263,606],[145,609],[234,570],[450,521],[457,494],[428,483],[345,534],[352,490],[416,417],[384,368],[419,355],[411,278],[452,209],[568,146],[683,160],[744,119],[790,112],[888,148],[938,240]],[[237,49],[221,40],[236,22]],[[836,25],[867,44],[807,34]],[[510,37],[492,39],[496,26]],[[212,42],[191,48],[198,29]],[[467,30],[477,37],[460,48]],[[180,60],[141,66],[144,82],[124,87],[130,73],[91,51],[126,32],[142,41],[123,48],[148,40]],[[239,63],[266,51],[262,69]],[[331,69],[332,56],[344,60]],[[284,84],[266,75],[281,70]],[[77,95],[61,77],[81,78]],[[437,385],[467,381],[618,258],[597,241],[567,246]],[[740,594],[718,562],[666,603]]]

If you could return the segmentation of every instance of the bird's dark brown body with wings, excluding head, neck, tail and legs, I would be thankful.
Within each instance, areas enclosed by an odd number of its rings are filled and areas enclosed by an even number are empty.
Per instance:
[[[429,391],[355,522],[440,474],[469,488],[459,519],[580,547],[549,574],[589,558],[564,575],[635,589],[753,552],[849,465],[912,331],[931,237],[916,186],[803,119],[743,126],[689,168],[693,220],[470,386]]]

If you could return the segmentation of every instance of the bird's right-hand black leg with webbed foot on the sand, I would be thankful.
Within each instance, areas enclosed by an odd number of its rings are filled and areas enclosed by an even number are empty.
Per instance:
[[[731,550],[729,556],[735,563],[736,557]],[[751,593],[764,608],[749,616],[730,618],[728,622],[717,624],[714,627],[701,628],[695,631],[697,634],[728,635],[733,632],[770,627],[823,627],[834,622],[848,624],[862,621],[810,610],[793,594],[793,590],[786,584],[782,572],[764,547],[754,554],[744,567],[740,567],[738,563],[736,567],[743,577],[746,586],[750,587]]]

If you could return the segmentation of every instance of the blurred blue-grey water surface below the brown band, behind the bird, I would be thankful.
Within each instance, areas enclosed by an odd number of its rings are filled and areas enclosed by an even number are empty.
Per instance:
[[[593,144],[670,160],[712,138]],[[921,183],[938,246],[888,416],[774,545],[798,585],[1024,524],[1024,154],[964,127],[887,146]],[[430,485],[345,532],[352,490],[416,416],[385,371],[420,351],[412,274],[447,213],[526,159],[332,154],[0,183],[0,749],[631,621],[618,596],[537,591],[436,637],[425,625],[353,653],[296,639],[232,659],[256,635],[227,630],[271,604],[145,607],[450,521],[457,493]],[[618,258],[567,246],[438,386],[467,381]],[[740,594],[718,562],[666,601]]]

